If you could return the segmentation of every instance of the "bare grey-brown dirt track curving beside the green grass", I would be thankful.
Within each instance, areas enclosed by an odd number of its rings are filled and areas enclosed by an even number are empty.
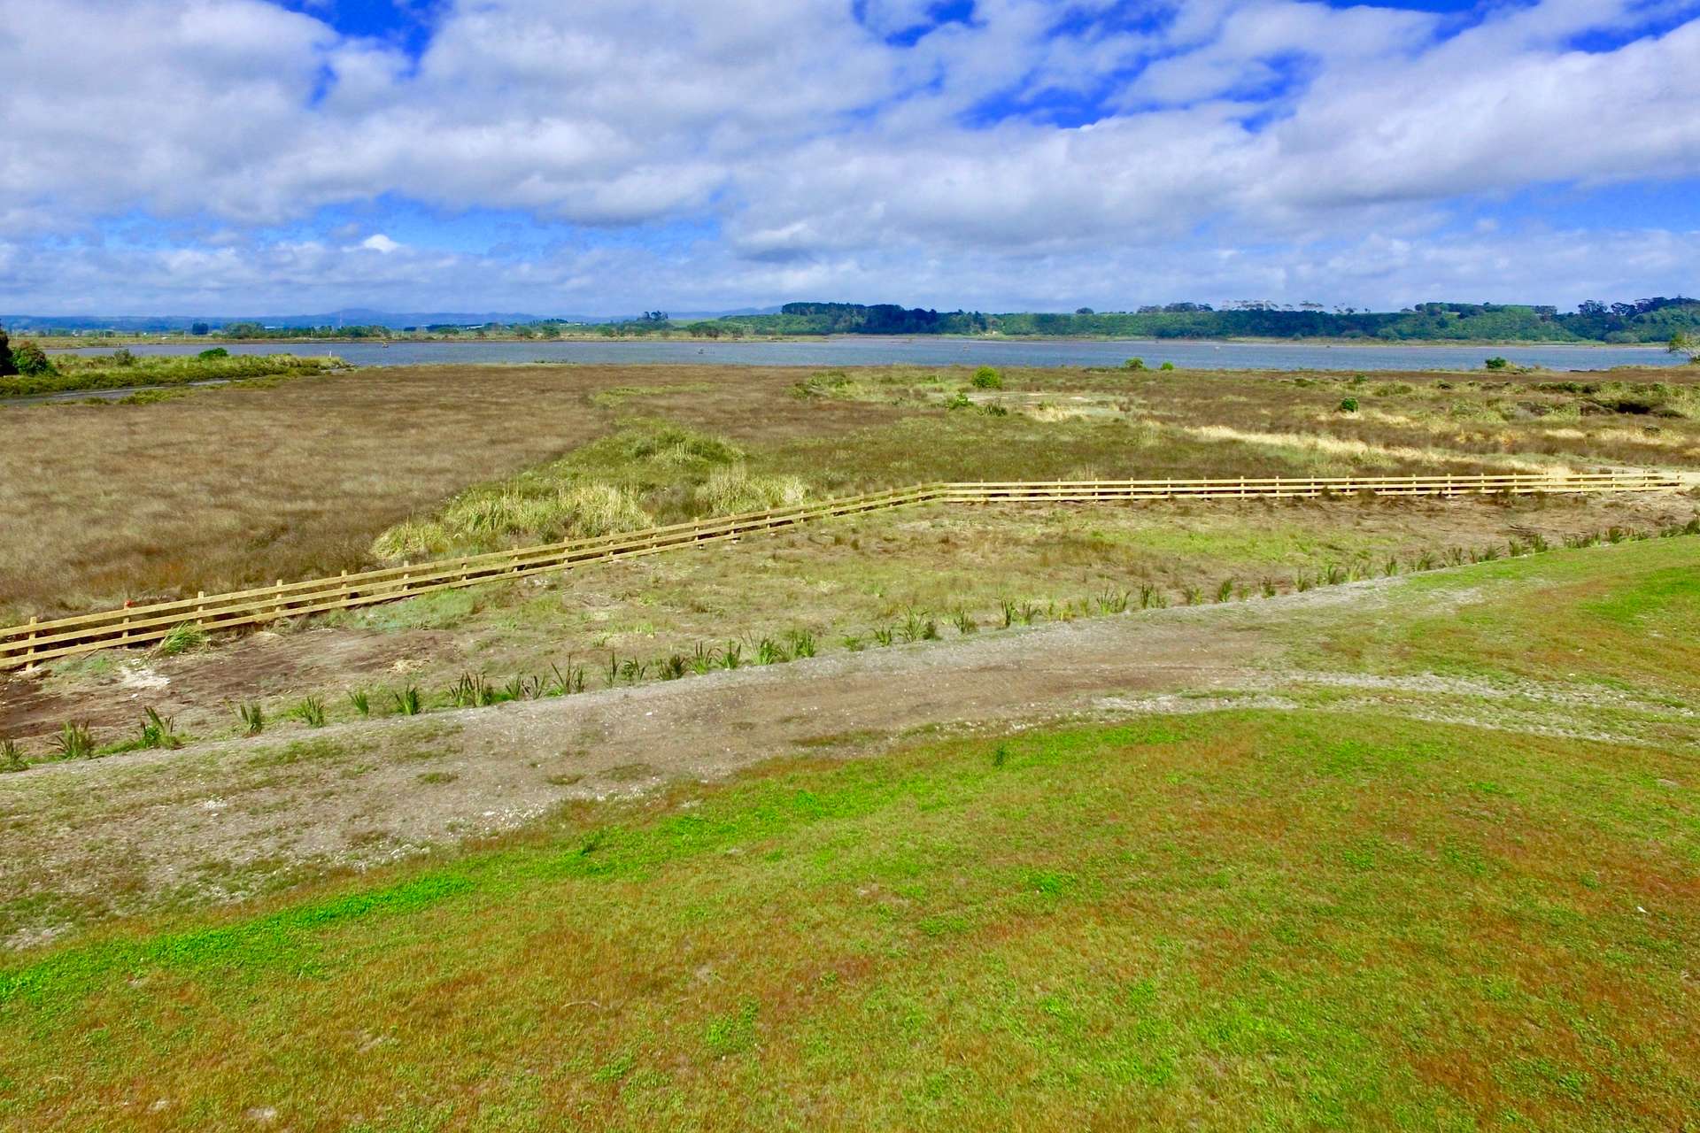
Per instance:
[[[515,829],[571,800],[789,754],[874,754],[916,729],[1175,710],[1226,690],[1241,693],[1234,703],[1292,707],[1280,693],[1323,674],[1292,673],[1289,642],[1386,617],[1394,596],[1411,613],[1476,593],[1409,593],[1406,581],[39,764],[0,778],[3,829],[29,848],[0,858],[0,941],[27,946],[85,917],[241,899]],[[1406,691],[1436,690],[1418,678]],[[1552,722],[1550,707],[1540,720]]]

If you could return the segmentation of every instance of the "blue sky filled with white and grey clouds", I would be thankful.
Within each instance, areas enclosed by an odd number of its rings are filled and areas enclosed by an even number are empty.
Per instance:
[[[1700,290],[1700,0],[0,0],[0,76],[12,313]]]

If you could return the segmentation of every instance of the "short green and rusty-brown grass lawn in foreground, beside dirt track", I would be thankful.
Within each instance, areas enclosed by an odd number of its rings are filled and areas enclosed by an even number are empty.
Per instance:
[[[1515,673],[1538,630],[1632,683],[1693,656],[1693,555],[1482,564],[1462,629],[1314,649]],[[1695,1128],[1697,788],[1394,707],[782,761],[17,956],[0,1125]]]

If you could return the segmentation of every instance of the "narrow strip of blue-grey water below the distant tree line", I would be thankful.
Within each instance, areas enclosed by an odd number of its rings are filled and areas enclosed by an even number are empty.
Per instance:
[[[197,353],[201,343],[131,347],[136,353]],[[1503,355],[1549,370],[1674,365],[1663,347],[1312,347],[1209,341],[1001,341],[964,338],[823,338],[804,341],[488,341],[488,343],[252,343],[231,353],[333,353],[354,365],[427,362],[711,362],[721,365],[1120,365],[1195,370],[1481,370]],[[88,347],[73,353],[110,353]]]

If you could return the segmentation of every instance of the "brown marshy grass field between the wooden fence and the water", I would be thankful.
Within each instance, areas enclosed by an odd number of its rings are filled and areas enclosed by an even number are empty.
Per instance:
[[[0,408],[0,620],[369,566],[394,523],[632,420],[728,438],[751,469],[813,493],[945,477],[1700,464],[1697,382],[1671,372],[1018,370],[993,391],[960,369],[835,374],[398,367],[155,404]],[[942,408],[952,397],[962,408]],[[1360,409],[1341,413],[1345,397]],[[658,518],[706,508],[665,479],[638,486]]]

